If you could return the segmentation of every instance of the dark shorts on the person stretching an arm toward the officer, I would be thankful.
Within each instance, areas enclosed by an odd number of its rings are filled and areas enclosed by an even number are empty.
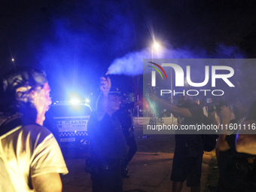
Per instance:
[[[187,187],[200,187],[203,150],[197,152],[195,157],[189,157],[187,148],[175,147],[172,163],[172,181],[184,182],[187,180]]]

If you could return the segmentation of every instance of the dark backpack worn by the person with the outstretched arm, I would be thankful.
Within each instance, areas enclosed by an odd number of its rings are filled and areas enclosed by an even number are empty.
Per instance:
[[[203,115],[203,124],[204,125],[211,125],[213,124],[213,121],[207,117],[206,115]],[[216,145],[216,139],[218,139],[218,134],[215,130],[208,130],[207,134],[202,135],[203,139],[203,151],[212,151],[215,149]]]

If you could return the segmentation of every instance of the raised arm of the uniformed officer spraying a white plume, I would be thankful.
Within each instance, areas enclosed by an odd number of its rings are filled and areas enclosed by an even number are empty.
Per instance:
[[[111,88],[110,78],[101,77],[99,88],[102,91],[102,93],[100,93],[96,103],[96,113],[98,120],[102,120],[102,118],[105,115],[105,112],[107,111],[108,106],[108,93]]]

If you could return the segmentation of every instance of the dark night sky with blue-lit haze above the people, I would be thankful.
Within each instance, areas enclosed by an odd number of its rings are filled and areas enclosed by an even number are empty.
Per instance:
[[[66,99],[72,91],[98,94],[111,63],[149,51],[154,40],[177,58],[255,58],[255,8],[254,1],[2,1],[0,75],[14,66],[44,69],[53,99]],[[113,87],[138,89],[133,72],[111,75]]]

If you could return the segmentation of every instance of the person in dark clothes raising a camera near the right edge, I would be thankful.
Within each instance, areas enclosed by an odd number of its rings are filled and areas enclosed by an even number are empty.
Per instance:
[[[251,175],[254,174],[253,165],[249,163],[249,159],[253,156],[236,151],[237,130],[233,129],[245,120],[250,99],[244,95],[236,94],[232,104],[235,119],[233,119],[232,111],[228,106],[223,105],[219,113],[224,129],[219,130],[220,135],[216,145],[216,150],[219,151],[218,168],[220,177],[218,191],[255,191],[255,187],[253,187],[255,180],[251,181],[251,178],[253,178]]]

